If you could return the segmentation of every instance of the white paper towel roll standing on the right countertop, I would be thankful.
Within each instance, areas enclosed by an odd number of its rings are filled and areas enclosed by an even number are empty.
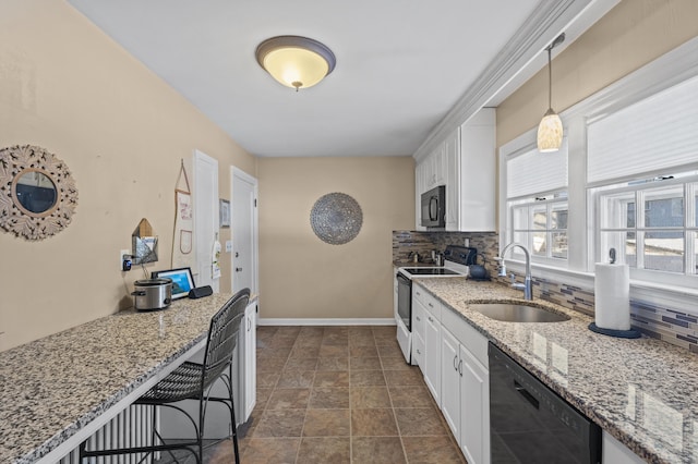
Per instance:
[[[630,269],[627,265],[597,262],[594,319],[598,327],[630,330]]]

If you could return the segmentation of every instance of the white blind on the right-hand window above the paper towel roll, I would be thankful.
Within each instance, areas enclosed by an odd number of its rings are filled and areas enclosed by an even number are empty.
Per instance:
[[[587,127],[587,182],[659,173],[698,162],[698,77]]]

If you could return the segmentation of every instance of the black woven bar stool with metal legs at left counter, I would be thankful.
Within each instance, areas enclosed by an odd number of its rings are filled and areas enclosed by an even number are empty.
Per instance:
[[[234,402],[232,399],[232,352],[238,343],[240,322],[244,317],[244,309],[250,300],[250,289],[243,289],[236,293],[210,319],[208,340],[204,363],[184,362],[169,376],[160,380],[133,404],[151,406],[167,406],[181,412],[189,417],[195,430],[195,438],[177,443],[165,443],[163,437],[153,424],[153,438],[151,445],[118,448],[109,450],[87,450],[87,441],[80,445],[80,459],[108,456],[115,454],[154,453],[158,451],[186,450],[194,454],[196,462],[203,462],[204,420],[206,406],[209,401],[224,403],[230,412],[232,435],[232,448],[236,455],[236,464],[240,463],[238,449],[238,431],[236,427]],[[226,386],[228,398],[210,396],[209,387],[218,379]],[[172,404],[182,400],[198,401],[198,420]],[[156,415],[153,414],[153,417]],[[157,443],[156,443],[157,439]],[[147,454],[146,454],[147,455]]]

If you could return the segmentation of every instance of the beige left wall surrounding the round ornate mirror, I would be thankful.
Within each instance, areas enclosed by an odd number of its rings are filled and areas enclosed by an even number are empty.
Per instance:
[[[118,255],[143,217],[160,239],[148,270],[170,267],[174,183],[194,149],[218,159],[221,197],[231,164],[256,174],[253,157],[63,0],[0,3],[0,146],[16,144],[65,161],[80,199],[48,240],[0,231],[0,350],[130,306],[144,276],[120,272]]]

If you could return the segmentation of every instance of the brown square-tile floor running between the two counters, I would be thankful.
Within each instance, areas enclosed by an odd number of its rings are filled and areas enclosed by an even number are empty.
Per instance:
[[[395,327],[260,327],[242,464],[465,463]],[[208,463],[231,463],[224,441]]]

